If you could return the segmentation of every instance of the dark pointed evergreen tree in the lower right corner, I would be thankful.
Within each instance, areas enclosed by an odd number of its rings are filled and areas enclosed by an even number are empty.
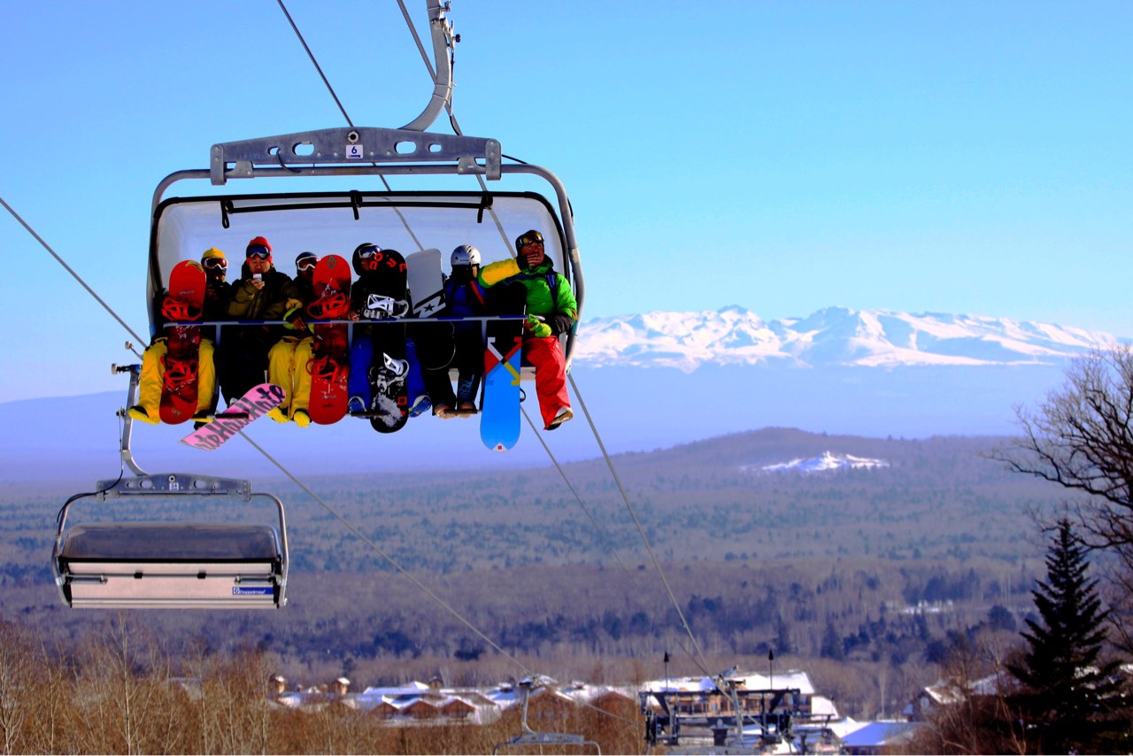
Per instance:
[[[1113,711],[1117,662],[1099,662],[1108,612],[1101,609],[1097,580],[1087,578],[1085,549],[1070,520],[1063,518],[1056,527],[1047,581],[1031,592],[1041,623],[1026,620],[1029,630],[1022,635],[1029,648],[1021,663],[1007,664],[1022,682],[1013,703],[1041,753],[1114,753],[1128,723]]]

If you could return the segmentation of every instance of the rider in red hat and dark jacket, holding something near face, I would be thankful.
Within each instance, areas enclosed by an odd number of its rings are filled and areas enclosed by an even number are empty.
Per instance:
[[[272,245],[262,236],[248,243],[240,280],[232,284],[228,304],[231,320],[278,321],[298,306],[301,295],[287,273],[272,265]],[[221,391],[231,405],[264,382],[267,352],[282,329],[274,324],[228,325],[221,341]]]

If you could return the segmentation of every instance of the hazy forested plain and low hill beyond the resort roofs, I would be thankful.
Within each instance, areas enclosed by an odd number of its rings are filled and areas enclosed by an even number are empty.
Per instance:
[[[676,603],[721,669],[773,649],[816,670],[866,664],[875,677],[908,678],[910,687],[935,674],[932,663],[956,643],[978,631],[1013,632],[1031,610],[1042,546],[1028,511],[1058,506],[1059,493],[989,461],[987,451],[1000,442],[773,428],[614,464]],[[763,470],[824,451],[888,467]],[[654,668],[670,651],[674,672],[696,673],[680,617],[605,462],[564,472],[570,486],[553,467],[306,483],[509,653],[551,673],[589,678],[629,669],[658,674]],[[293,484],[257,485],[288,506],[289,605],[147,611],[131,621],[174,646],[274,652],[300,679],[344,671],[373,683],[443,668],[461,678],[455,682],[479,682],[516,673]],[[9,496],[0,508],[0,615],[59,638],[101,631],[109,612],[66,610],[50,583],[61,493]],[[904,691],[889,688],[896,705]],[[877,711],[872,693],[844,696],[862,699],[859,714]]]

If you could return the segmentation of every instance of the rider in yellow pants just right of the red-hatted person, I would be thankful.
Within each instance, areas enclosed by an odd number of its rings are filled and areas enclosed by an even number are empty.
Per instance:
[[[299,290],[299,304],[289,307],[283,314],[283,320],[287,321],[283,325],[286,333],[267,352],[267,381],[287,392],[283,402],[267,413],[267,416],[276,423],[287,423],[296,419],[298,413],[296,424],[301,427],[310,424],[306,411],[310,399],[310,372],[307,363],[313,354],[314,337],[304,315],[306,306],[315,298],[312,281],[317,263],[318,257],[313,252],[300,252],[295,258],[295,284]]]

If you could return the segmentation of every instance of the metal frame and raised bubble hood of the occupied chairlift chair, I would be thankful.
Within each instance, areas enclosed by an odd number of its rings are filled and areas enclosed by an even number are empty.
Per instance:
[[[373,181],[392,176],[480,176],[494,181],[513,175],[543,179],[553,201],[529,190],[394,192],[382,187],[167,196],[174,184],[191,179],[225,187],[253,178],[368,177]],[[156,303],[169,271],[210,247],[240,260],[248,240],[263,236],[280,261],[290,262],[308,249],[349,257],[364,241],[406,255],[440,249],[445,257],[457,246],[471,244],[487,264],[513,256],[514,239],[529,229],[543,232],[546,254],[572,287],[581,312],[585,284],[565,189],[544,168],[504,164],[495,139],[349,127],[215,144],[207,170],[171,173],[154,192],[146,290],[151,334],[160,321]],[[569,367],[574,335],[563,338]],[[530,367],[525,372],[530,379]]]

